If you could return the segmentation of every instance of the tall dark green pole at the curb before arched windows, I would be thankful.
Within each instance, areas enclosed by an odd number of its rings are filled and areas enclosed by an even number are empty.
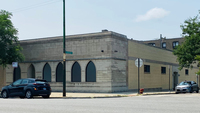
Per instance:
[[[63,97],[66,96],[65,0],[63,0]]]

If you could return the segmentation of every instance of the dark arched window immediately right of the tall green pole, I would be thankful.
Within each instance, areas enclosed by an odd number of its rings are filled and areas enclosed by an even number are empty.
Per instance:
[[[71,70],[71,81],[81,82],[81,67],[78,62],[75,62]]]

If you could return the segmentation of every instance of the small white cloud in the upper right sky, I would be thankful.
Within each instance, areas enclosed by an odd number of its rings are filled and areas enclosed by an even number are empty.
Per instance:
[[[159,19],[167,16],[170,12],[162,8],[153,8],[147,11],[144,15],[138,15],[135,19],[136,22],[147,21],[151,19]]]

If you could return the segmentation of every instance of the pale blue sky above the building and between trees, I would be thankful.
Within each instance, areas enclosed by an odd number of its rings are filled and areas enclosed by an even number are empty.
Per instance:
[[[135,40],[181,37],[199,0],[66,0],[66,35],[118,32]],[[0,0],[13,13],[20,40],[63,35],[63,0]]]

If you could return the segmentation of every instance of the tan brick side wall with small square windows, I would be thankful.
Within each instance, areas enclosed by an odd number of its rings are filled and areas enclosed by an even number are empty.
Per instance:
[[[135,66],[136,58],[141,58],[143,66],[140,67],[140,88],[149,90],[173,89],[174,72],[178,72],[178,83],[184,80],[197,81],[195,72],[198,68],[188,69],[189,74],[185,75],[185,68],[178,70],[178,62],[172,51],[141,44],[137,41],[128,41],[128,88],[138,88],[138,68]],[[144,65],[150,66],[150,73],[144,72]],[[166,67],[166,73],[161,73],[161,67]],[[170,69],[169,69],[170,67]],[[169,86],[170,83],[170,86]]]

